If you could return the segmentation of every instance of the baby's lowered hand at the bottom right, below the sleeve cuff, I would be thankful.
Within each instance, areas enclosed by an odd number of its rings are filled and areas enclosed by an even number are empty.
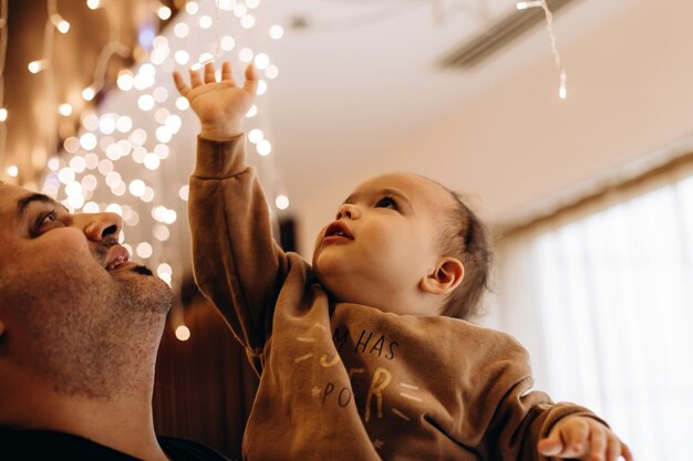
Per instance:
[[[569,416],[556,423],[546,439],[539,440],[539,453],[545,457],[570,458],[582,461],[616,461],[633,455],[618,437],[596,419]]]

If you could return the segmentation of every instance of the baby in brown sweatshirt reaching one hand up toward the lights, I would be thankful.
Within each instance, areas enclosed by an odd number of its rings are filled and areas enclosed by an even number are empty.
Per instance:
[[[248,460],[609,460],[632,457],[589,410],[532,385],[525,349],[468,318],[486,287],[484,229],[412,174],[359,186],[318,234],[312,265],[272,240],[246,165],[248,66],[174,74],[201,123],[190,178],[196,280],[260,387]]]

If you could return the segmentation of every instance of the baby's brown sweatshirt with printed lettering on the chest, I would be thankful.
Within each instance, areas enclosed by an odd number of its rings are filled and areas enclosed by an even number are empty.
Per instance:
[[[247,460],[544,460],[558,419],[592,416],[529,391],[506,334],[332,303],[272,240],[244,145],[198,139],[189,219],[197,282],[261,374]]]

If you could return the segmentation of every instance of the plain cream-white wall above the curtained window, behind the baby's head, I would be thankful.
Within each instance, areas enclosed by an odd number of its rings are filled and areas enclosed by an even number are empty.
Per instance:
[[[603,0],[607,1],[607,0]],[[594,2],[592,2],[594,3]],[[386,149],[363,171],[414,170],[474,197],[492,222],[510,220],[559,195],[693,133],[693,2],[632,0],[608,21],[591,10],[558,17],[570,28],[560,51],[568,98],[546,55]],[[568,15],[572,14],[572,18]],[[511,50],[509,52],[513,52]],[[316,232],[359,180],[318,190],[301,207],[299,235],[310,255]]]

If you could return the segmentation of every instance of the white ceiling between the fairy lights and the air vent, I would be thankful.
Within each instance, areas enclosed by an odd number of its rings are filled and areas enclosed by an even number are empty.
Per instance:
[[[445,70],[438,62],[498,17],[516,12],[515,3],[263,3],[266,19],[286,29],[282,40],[269,43],[281,74],[271,83],[268,97],[277,164],[290,193],[300,203],[307,193],[335,178],[365,178],[373,156],[425,129],[465,97],[493,84],[503,70],[479,78],[478,71]],[[306,18],[306,29],[288,25],[297,17]],[[545,39],[540,51],[549,56]]]

